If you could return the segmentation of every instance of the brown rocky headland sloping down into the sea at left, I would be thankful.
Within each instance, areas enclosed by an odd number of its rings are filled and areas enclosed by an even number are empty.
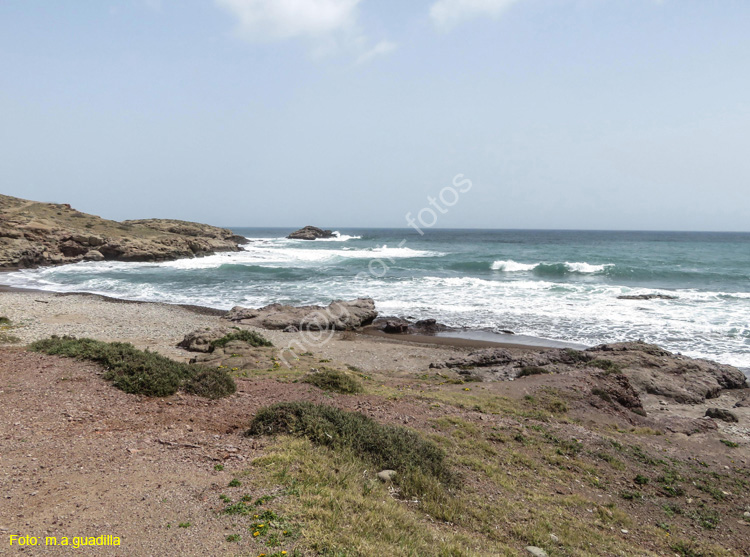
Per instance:
[[[0,195],[0,269],[79,261],[170,261],[239,251],[231,230],[180,220],[117,222],[68,204]]]

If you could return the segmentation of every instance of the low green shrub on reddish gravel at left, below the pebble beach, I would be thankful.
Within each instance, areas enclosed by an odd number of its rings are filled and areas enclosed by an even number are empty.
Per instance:
[[[35,352],[97,362],[106,368],[106,380],[131,394],[163,397],[183,389],[207,398],[221,398],[237,389],[234,380],[222,369],[176,362],[124,342],[53,336],[34,342],[29,348]]]

